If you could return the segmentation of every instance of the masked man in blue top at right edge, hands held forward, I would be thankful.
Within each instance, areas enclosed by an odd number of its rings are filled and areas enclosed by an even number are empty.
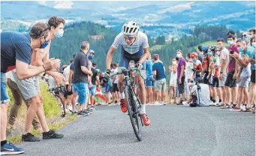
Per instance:
[[[251,83],[249,87],[249,101],[246,105],[246,110],[251,111],[251,104],[254,102],[255,96],[255,49],[252,46],[247,46],[245,40],[237,39],[236,46],[240,52],[239,54],[230,54],[231,57],[235,58],[240,67],[246,68],[251,63]],[[243,55],[248,55],[248,59],[242,60]]]

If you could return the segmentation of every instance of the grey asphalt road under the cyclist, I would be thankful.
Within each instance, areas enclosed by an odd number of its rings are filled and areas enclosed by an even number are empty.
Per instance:
[[[255,155],[255,115],[218,107],[149,106],[138,142],[119,106],[101,106],[59,130],[63,139],[23,142],[23,155]]]

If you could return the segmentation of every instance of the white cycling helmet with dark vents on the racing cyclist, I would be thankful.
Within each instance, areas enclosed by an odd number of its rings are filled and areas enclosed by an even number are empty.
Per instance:
[[[122,26],[122,33],[126,36],[135,36],[140,30],[140,26],[134,21],[129,21]]]

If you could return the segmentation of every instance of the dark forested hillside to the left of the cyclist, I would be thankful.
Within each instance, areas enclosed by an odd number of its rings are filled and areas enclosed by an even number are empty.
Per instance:
[[[71,24],[65,27],[63,37],[53,40],[50,57],[61,58],[62,64],[66,64],[73,58],[74,52],[80,50],[80,43],[83,40],[88,40],[90,49],[93,49],[96,54],[92,62],[95,62],[101,70],[105,70],[107,52],[118,33],[118,31],[90,22]],[[94,40],[92,36],[95,35],[101,36],[102,39]],[[116,52],[113,61],[117,62],[118,60],[119,52]]]

